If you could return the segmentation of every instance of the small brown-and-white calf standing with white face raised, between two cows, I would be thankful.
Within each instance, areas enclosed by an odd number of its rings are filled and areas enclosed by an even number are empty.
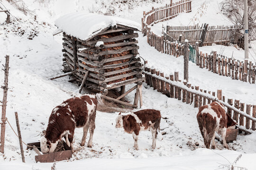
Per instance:
[[[116,128],[124,128],[124,131],[132,134],[134,146],[138,150],[138,134],[140,131],[150,130],[152,133],[152,149],[155,149],[157,129],[160,129],[161,114],[159,110],[146,109],[122,116],[119,113],[116,119]]]

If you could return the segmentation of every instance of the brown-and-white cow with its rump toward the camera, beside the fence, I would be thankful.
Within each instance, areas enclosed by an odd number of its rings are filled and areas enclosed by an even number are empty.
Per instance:
[[[197,121],[203,136],[206,148],[215,149],[215,131],[220,132],[223,145],[229,148],[226,143],[227,128],[234,127],[237,123],[226,113],[224,106],[219,102],[212,102],[199,108]]]

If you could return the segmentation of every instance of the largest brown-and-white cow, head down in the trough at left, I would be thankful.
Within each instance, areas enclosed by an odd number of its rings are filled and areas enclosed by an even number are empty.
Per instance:
[[[50,115],[46,134],[41,138],[41,152],[53,153],[62,137],[73,151],[73,136],[75,127],[83,127],[81,145],[85,143],[88,128],[90,139],[87,147],[91,147],[95,128],[97,99],[94,95],[83,95],[64,101],[56,106]]]

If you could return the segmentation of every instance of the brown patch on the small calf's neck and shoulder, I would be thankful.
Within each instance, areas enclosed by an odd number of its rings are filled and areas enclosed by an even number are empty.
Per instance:
[[[122,116],[123,126],[125,132],[131,134],[134,132],[136,135],[139,134],[140,126],[137,123],[136,119],[131,115]]]

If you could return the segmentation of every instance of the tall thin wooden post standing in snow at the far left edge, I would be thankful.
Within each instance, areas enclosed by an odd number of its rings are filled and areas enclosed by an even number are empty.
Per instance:
[[[4,67],[4,86],[3,89],[3,101],[2,101],[2,117],[1,117],[1,136],[0,136],[0,152],[4,153],[4,140],[5,140],[5,121],[6,121],[6,105],[7,105],[7,92],[8,92],[8,75],[9,75],[9,55],[6,55],[5,67]]]

